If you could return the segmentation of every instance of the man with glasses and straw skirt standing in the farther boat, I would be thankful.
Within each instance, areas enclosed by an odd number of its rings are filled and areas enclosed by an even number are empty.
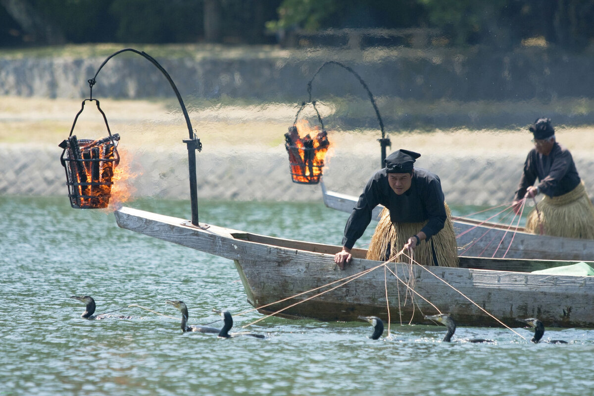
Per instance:
[[[526,222],[528,232],[594,239],[594,207],[570,151],[556,141],[548,118],[537,119],[529,131],[535,147],[524,163],[514,196],[514,211],[519,213],[526,199],[542,193],[544,198]],[[536,179],[539,183],[535,186]]]

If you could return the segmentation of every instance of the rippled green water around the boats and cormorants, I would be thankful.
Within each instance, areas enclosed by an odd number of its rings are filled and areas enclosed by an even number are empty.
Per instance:
[[[185,201],[130,205],[189,217]],[[200,203],[206,223],[333,244],[346,217],[322,204]],[[392,324],[390,338],[372,341],[366,322],[269,318],[249,327],[265,340],[182,334],[178,319],[128,305],[178,318],[165,300],[184,300],[190,324],[217,320],[213,308],[247,311],[233,262],[119,229],[112,214],[74,210],[64,197],[0,197],[0,238],[0,396],[594,392],[594,330],[547,329],[570,342],[553,345],[459,328],[454,337],[497,342],[446,344],[438,326]],[[72,294],[93,296],[97,313],[134,317],[82,319]],[[235,316],[235,328],[262,317]]]

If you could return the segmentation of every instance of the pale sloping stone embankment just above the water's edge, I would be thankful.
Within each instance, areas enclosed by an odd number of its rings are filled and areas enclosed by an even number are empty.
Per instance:
[[[0,144],[0,158],[4,162],[0,195],[67,197],[60,154],[58,147]],[[575,159],[593,197],[594,160]],[[419,166],[438,173],[448,203],[494,206],[511,202],[523,160],[523,156],[496,154],[485,158],[443,153],[421,157]],[[378,163],[378,153],[335,153],[324,171],[324,181],[330,190],[358,196]],[[136,175],[127,182],[133,197],[189,198],[187,151],[134,154],[129,170]],[[283,147],[270,148],[258,157],[250,150],[233,154],[198,153],[197,173],[200,199],[320,201],[322,197],[319,185],[291,181]]]

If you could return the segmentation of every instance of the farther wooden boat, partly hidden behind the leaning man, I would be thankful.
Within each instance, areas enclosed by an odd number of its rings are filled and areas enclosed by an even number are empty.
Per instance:
[[[328,208],[350,213],[358,198],[328,191],[321,182],[324,204]],[[380,218],[383,206],[373,211],[373,218]],[[454,219],[454,230],[460,256],[491,258],[518,258],[551,260],[594,260],[594,240],[573,239],[525,232],[523,227],[473,220]]]

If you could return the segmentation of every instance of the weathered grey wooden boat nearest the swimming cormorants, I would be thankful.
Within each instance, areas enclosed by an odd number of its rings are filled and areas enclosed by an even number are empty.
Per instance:
[[[500,325],[470,299],[514,327],[515,318],[533,316],[548,326],[594,327],[594,277],[530,273],[573,262],[462,257],[460,268],[390,263],[384,271],[383,263],[364,259],[364,249],[353,249],[352,261],[340,270],[333,259],[340,246],[195,226],[127,207],[115,211],[115,217],[122,228],[233,260],[249,303],[265,314],[283,309],[277,315],[387,319],[389,304],[392,322],[427,323],[422,315],[438,309],[460,325]],[[418,294],[411,297],[411,289]]]

